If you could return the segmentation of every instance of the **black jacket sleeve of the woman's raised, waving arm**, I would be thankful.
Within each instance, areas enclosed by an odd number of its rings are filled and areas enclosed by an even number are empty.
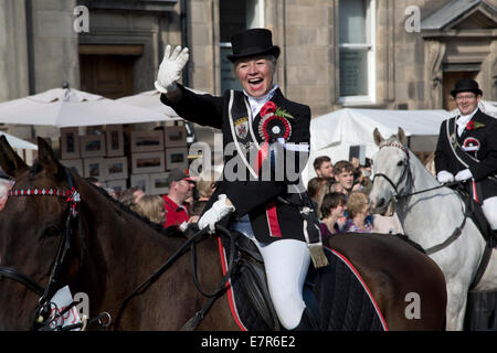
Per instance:
[[[181,118],[197,122],[202,126],[210,126],[221,129],[223,114],[223,98],[209,94],[199,95],[182,85],[178,84],[182,90],[181,99],[171,104],[166,95],[160,95],[160,100],[170,106]]]

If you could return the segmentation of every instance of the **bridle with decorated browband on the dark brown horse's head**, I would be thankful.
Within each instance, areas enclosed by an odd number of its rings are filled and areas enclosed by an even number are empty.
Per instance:
[[[61,274],[64,270],[64,265],[71,259],[71,254],[73,252],[73,243],[74,243],[74,228],[77,224],[80,227],[80,237],[82,237],[83,233],[81,229],[81,218],[78,215],[77,206],[81,201],[80,194],[74,189],[73,180],[71,176],[71,172],[65,169],[67,174],[67,182],[70,188],[67,190],[60,190],[60,189],[36,189],[36,188],[29,188],[29,189],[12,189],[9,191],[9,197],[19,197],[19,196],[55,196],[55,197],[62,197],[67,203],[70,203],[70,207],[67,210],[67,217],[65,221],[65,227],[63,236],[61,237],[61,242],[59,245],[59,249],[56,253],[55,261],[51,270],[51,275],[49,278],[49,282],[45,288],[40,286],[35,280],[33,280],[28,275],[17,270],[12,267],[4,267],[0,266],[0,278],[6,277],[9,279],[12,279],[14,281],[20,282],[21,285],[24,285],[28,289],[33,291],[40,297],[39,304],[35,310],[34,319],[32,329],[35,329],[36,327],[42,327],[43,323],[47,322],[50,320],[50,313],[51,313],[51,298],[53,295],[59,290],[62,286],[61,284]],[[83,256],[83,244],[82,246],[82,254]],[[80,265],[82,264],[83,258],[80,259]],[[80,266],[81,267],[81,266]]]

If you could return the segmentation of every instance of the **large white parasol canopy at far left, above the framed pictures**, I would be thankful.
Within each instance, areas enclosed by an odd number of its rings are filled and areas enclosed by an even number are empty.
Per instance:
[[[159,99],[159,98],[157,98]],[[169,120],[168,116],[74,88],[0,103],[0,122],[77,127]]]

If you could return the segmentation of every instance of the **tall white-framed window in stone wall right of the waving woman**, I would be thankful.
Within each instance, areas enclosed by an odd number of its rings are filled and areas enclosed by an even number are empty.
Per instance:
[[[339,2],[339,101],[345,105],[376,100],[374,2]]]

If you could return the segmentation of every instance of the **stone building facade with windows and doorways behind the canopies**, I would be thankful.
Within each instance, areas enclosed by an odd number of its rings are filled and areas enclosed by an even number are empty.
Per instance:
[[[77,6],[88,9],[88,32],[75,28]],[[229,38],[253,26],[273,31],[276,82],[315,117],[450,109],[461,77],[497,100],[496,9],[497,0],[0,0],[0,101],[64,81],[110,98],[152,89],[167,43],[191,50],[186,85],[220,95],[233,85]]]

